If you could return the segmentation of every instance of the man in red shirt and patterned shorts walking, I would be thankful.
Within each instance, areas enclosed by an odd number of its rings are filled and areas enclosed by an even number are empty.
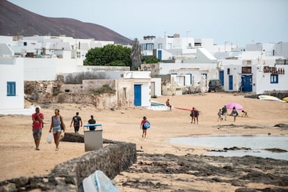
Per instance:
[[[39,145],[40,145],[40,140],[42,136],[44,115],[43,113],[40,113],[39,107],[35,108],[35,113],[32,114],[32,120],[33,120],[33,125],[32,125],[33,138],[34,138],[34,143],[36,146],[35,150],[40,150]]]

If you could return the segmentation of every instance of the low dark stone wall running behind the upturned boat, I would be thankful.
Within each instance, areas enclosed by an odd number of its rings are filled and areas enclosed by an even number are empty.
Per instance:
[[[113,179],[136,163],[136,144],[115,142],[82,157],[58,164],[49,175],[20,177],[0,183],[0,191],[81,191],[81,182],[95,170]]]

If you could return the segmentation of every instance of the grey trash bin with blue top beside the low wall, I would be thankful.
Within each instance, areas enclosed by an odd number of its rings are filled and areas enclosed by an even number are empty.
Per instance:
[[[88,124],[84,125],[83,127],[90,126],[102,126],[102,124]],[[95,129],[94,131],[84,130],[84,143],[86,152],[99,150],[99,148],[103,147],[102,131],[102,129]]]

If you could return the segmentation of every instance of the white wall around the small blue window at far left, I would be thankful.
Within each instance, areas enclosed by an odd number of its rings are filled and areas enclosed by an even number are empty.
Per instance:
[[[0,58],[0,109],[24,109],[23,58],[9,60]],[[7,81],[15,81],[15,96],[7,96]]]

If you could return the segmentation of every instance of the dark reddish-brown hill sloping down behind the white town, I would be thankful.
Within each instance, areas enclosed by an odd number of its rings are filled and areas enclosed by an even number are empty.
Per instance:
[[[77,19],[44,17],[0,0],[0,35],[66,35],[73,38],[112,40],[128,45],[132,40],[98,24],[81,22]]]

